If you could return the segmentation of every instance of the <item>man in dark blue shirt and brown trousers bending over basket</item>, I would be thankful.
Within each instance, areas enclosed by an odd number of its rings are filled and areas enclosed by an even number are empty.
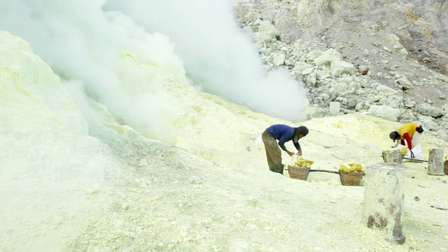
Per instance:
[[[263,143],[265,144],[267,165],[271,172],[278,172],[283,174],[283,164],[281,164],[281,150],[280,148],[293,156],[295,153],[289,151],[285,147],[287,141],[293,141],[297,149],[297,155],[302,155],[302,148],[300,148],[299,139],[308,134],[308,128],[304,126],[290,127],[288,125],[272,125],[268,127],[265,132],[261,134]],[[277,143],[277,140],[279,141]],[[280,148],[279,148],[280,146]]]

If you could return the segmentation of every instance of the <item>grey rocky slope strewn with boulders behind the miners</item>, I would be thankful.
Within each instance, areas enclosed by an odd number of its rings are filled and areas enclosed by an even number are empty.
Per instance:
[[[235,13],[268,69],[305,83],[311,117],[337,101],[448,140],[448,1],[235,0]]]

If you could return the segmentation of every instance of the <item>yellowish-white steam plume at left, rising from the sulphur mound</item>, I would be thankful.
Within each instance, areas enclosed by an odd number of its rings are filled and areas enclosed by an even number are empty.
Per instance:
[[[146,137],[173,141],[178,109],[161,85],[164,78],[186,80],[181,60],[166,36],[105,13],[103,3],[1,0],[0,29],[28,41],[66,85],[78,85],[68,88],[73,99],[83,99],[73,93],[83,90]]]

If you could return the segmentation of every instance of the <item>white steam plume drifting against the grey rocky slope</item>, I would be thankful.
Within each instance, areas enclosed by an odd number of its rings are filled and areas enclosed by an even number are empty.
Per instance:
[[[238,27],[229,0],[108,0],[149,32],[174,41],[187,74],[206,92],[286,119],[304,118],[302,83],[286,70],[266,75],[255,45]]]

